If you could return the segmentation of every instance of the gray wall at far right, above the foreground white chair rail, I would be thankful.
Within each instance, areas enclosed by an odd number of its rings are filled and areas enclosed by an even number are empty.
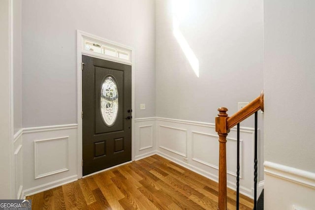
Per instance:
[[[265,160],[315,172],[315,1],[265,0]]]

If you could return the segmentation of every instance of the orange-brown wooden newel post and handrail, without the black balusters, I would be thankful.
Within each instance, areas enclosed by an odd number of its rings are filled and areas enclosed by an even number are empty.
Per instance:
[[[220,107],[219,114],[216,117],[216,132],[219,135],[219,200],[218,210],[227,209],[227,186],[226,186],[226,136],[230,128],[247,119],[258,110],[264,111],[264,92],[255,98],[251,103],[239,110],[237,113],[228,117],[227,108]]]

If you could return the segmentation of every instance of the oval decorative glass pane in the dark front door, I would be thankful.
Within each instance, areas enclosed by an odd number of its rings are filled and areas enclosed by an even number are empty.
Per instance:
[[[113,77],[104,79],[100,91],[100,110],[107,126],[112,126],[118,115],[118,87]]]

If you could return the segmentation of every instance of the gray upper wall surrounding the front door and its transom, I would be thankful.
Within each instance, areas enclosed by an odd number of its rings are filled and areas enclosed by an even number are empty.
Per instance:
[[[135,49],[135,117],[155,116],[154,0],[27,0],[23,127],[77,123],[76,30]],[[146,110],[139,110],[140,103]]]

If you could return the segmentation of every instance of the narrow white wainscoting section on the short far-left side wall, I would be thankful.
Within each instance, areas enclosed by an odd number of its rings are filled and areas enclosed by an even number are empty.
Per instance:
[[[23,129],[20,129],[14,135],[13,142],[13,177],[15,180],[14,184],[14,195],[15,199],[23,198]]]

